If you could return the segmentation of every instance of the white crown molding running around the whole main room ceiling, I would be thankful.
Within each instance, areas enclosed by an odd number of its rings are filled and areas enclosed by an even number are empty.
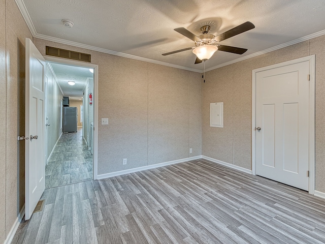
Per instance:
[[[108,49],[104,49],[104,48],[100,48],[100,47],[94,47],[94,46],[85,45],[85,44],[78,43],[78,42],[72,42],[72,41],[68,41],[68,40],[64,40],[64,39],[60,39],[60,38],[55,38],[55,37],[50,37],[50,36],[38,34],[36,32],[34,24],[31,21],[31,18],[29,16],[28,12],[27,12],[26,6],[23,3],[23,0],[15,0],[15,2],[16,2],[16,4],[17,4],[17,6],[18,6],[18,8],[19,8],[19,10],[20,10],[20,12],[21,12],[21,14],[22,14],[22,16],[23,16],[23,18],[24,18],[24,20],[25,20],[25,22],[26,22],[26,24],[27,24],[27,26],[28,26],[28,28],[29,28],[29,30],[30,30],[33,37],[40,38],[40,39],[47,40],[47,41],[52,41],[52,42],[58,42],[58,43],[61,43],[61,44],[67,44],[67,45],[71,45],[71,46],[75,46],[75,47],[81,47],[81,48],[85,48],[85,49],[89,49],[89,50],[93,50],[93,51],[104,52],[104,53],[108,53],[108,54],[112,54],[112,55],[116,55],[116,56],[132,58],[132,59],[136,59],[136,60],[140,60],[140,61],[148,62],[148,63],[152,63],[152,64],[177,68],[177,69],[181,69],[181,70],[188,70],[188,71],[197,72],[197,73],[203,73],[204,72],[204,70],[191,69],[191,68],[184,67],[184,66],[173,65],[173,64],[169,64],[169,63],[165,63],[165,62],[161,62],[161,61],[157,61],[157,60],[153,60],[153,59],[149,59],[149,58],[139,57],[139,56],[135,56],[135,55],[131,55],[131,54],[116,52],[116,51],[112,51],[112,50],[108,50]],[[307,41],[309,39],[319,37],[319,36],[322,36],[322,35],[325,35],[325,29],[323,31],[316,32],[314,34],[311,34],[311,35],[308,35],[308,36],[305,36],[305,37],[302,37],[302,38],[298,38],[296,40],[286,42],[286,43],[283,43],[283,44],[280,44],[280,45],[265,49],[263,51],[255,52],[255,53],[249,54],[247,56],[243,56],[243,57],[231,60],[230,62],[226,62],[226,63],[220,64],[220,65],[217,65],[217,66],[213,66],[213,67],[211,67],[209,69],[206,69],[205,71],[208,72],[208,71],[211,71],[211,70],[221,68],[223,66],[235,64],[235,63],[241,62],[243,60],[246,60],[246,59],[249,59],[249,58],[252,58],[252,57],[256,57],[258,55],[262,55],[262,54],[265,54],[265,53],[268,53],[268,52],[272,52],[272,51],[275,51],[275,50],[278,50],[278,49],[281,49],[281,48],[284,48],[284,47],[287,47],[287,46],[290,46],[290,45],[294,45],[294,44],[297,44],[297,43],[300,43],[300,42],[304,42],[304,41]]]

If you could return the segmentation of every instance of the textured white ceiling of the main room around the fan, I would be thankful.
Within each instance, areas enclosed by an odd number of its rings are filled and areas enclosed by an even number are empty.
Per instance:
[[[246,21],[256,27],[220,44],[247,48],[243,55],[217,51],[206,62],[212,69],[242,56],[291,42],[325,29],[324,0],[16,0],[23,3],[34,36],[58,38],[141,58],[165,62],[189,70],[196,56],[187,50],[162,53],[193,46],[175,32],[185,27],[200,35],[200,27],[211,24],[217,35]],[[20,9],[22,9],[20,7]],[[61,19],[74,22],[63,26]],[[32,24],[31,24],[32,23]],[[60,41],[56,39],[57,41]],[[79,45],[78,44],[78,45]],[[79,45],[80,46],[80,45]]]

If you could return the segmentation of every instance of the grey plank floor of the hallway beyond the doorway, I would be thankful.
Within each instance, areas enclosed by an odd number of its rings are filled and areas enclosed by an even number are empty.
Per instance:
[[[64,186],[92,179],[92,155],[77,133],[63,133],[45,167],[45,188]]]

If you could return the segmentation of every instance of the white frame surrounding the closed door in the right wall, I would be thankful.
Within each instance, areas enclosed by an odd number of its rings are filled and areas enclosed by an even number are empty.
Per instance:
[[[315,193],[315,55],[252,70],[252,174],[256,175],[256,73],[283,66],[309,62],[309,190]]]

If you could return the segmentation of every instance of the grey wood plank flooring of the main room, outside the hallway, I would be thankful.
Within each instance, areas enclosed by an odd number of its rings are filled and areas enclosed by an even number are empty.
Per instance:
[[[325,243],[325,200],[206,160],[45,190],[12,243]]]

